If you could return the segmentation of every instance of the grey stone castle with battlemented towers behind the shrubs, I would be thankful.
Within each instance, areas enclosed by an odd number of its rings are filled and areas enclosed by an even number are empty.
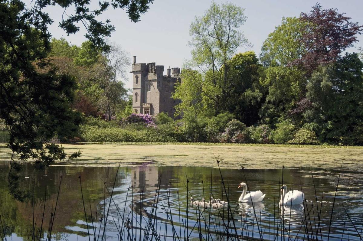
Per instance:
[[[164,66],[152,63],[132,64],[132,110],[135,113],[155,115],[161,112],[174,118],[174,106],[179,100],[171,98],[174,85],[180,81],[180,68],[167,69],[163,75]]]

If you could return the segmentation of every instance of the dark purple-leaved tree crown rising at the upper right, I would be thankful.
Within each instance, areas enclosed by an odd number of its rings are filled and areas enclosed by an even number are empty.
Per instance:
[[[338,9],[322,9],[320,4],[313,7],[310,13],[301,13],[301,21],[307,23],[303,32],[302,43],[307,53],[295,61],[311,73],[319,65],[335,62],[340,53],[353,46],[357,34],[362,33],[363,26],[351,22],[351,18]]]

